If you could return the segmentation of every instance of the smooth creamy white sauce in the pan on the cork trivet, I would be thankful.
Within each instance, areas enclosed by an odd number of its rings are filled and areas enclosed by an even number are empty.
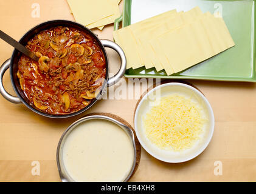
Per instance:
[[[64,167],[74,181],[124,181],[133,161],[130,136],[103,119],[77,125],[63,145]]]

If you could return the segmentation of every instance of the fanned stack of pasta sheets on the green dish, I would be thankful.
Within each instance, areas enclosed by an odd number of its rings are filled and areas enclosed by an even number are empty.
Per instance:
[[[156,68],[167,75],[181,72],[235,45],[223,18],[199,7],[170,10],[114,32],[124,50],[126,69]]]

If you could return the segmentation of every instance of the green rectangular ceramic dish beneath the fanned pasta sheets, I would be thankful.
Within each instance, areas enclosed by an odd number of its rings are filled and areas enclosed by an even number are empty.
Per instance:
[[[211,1],[211,0],[125,0],[123,13],[116,19],[115,30],[139,21],[136,17],[143,18],[145,10],[156,12],[158,7],[166,3],[168,10],[177,9],[187,11],[199,6],[203,12],[223,12],[229,32],[235,41],[235,47],[226,50],[204,62],[194,65],[183,72],[167,76],[165,71],[156,72],[156,69],[141,67],[126,70],[128,78],[163,78],[163,79],[206,79],[219,81],[247,81],[256,82],[255,75],[255,1]],[[140,7],[139,7],[140,6]],[[136,8],[134,8],[136,7]],[[154,8],[155,7],[155,8]],[[133,11],[134,10],[134,11]],[[139,13],[140,12],[140,13]],[[133,17],[134,16],[134,17]]]

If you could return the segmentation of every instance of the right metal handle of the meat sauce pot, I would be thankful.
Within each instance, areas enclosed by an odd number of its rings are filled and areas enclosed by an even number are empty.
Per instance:
[[[100,39],[100,41],[102,42],[104,47],[108,47],[111,49],[114,49],[118,55],[120,56],[121,59],[121,66],[119,71],[116,73],[116,75],[112,76],[112,78],[108,79],[108,87],[110,87],[111,85],[114,85],[116,82],[119,81],[119,79],[122,78],[122,76],[125,74],[125,70],[126,70],[126,57],[125,57],[125,53],[123,52],[123,50],[121,49],[121,47],[119,47],[119,45],[117,45],[115,42],[106,40],[106,39]]]

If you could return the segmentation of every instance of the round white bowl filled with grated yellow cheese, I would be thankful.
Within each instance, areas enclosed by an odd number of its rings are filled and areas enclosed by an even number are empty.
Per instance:
[[[134,127],[144,149],[164,162],[189,161],[209,145],[214,115],[206,97],[195,87],[178,82],[162,84],[137,105]]]

